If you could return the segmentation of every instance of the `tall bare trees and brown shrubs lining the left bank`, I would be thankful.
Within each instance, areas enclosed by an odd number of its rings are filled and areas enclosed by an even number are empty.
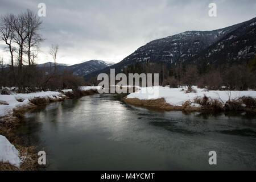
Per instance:
[[[10,60],[0,57],[0,88],[15,86],[19,92],[35,90],[56,90],[77,88],[84,79],[74,76],[72,72],[56,72],[57,44],[51,46],[49,54],[55,63],[54,71],[36,67],[36,58],[40,52],[43,37],[40,34],[42,20],[31,10],[25,13],[2,15],[0,18],[0,41],[5,43]]]

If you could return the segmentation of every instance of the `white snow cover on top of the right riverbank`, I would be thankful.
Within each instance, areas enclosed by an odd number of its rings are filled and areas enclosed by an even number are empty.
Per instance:
[[[184,89],[184,91],[183,91]],[[138,98],[139,100],[155,100],[158,98],[164,98],[166,102],[174,106],[182,106],[185,101],[192,101],[196,97],[210,97],[222,102],[226,102],[230,99],[235,99],[243,96],[250,96],[256,98],[256,91],[220,91],[199,89],[193,86],[196,93],[185,93],[185,88],[168,88],[162,86],[154,86],[148,88],[141,88],[135,93],[131,93],[127,98]],[[197,105],[195,105],[197,106]]]

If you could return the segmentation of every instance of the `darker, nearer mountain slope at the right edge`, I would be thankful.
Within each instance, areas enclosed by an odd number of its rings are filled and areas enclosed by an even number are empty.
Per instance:
[[[226,62],[245,61],[256,54],[256,18],[243,23],[236,30],[229,32],[218,42],[204,49],[192,60],[200,64],[222,64]]]

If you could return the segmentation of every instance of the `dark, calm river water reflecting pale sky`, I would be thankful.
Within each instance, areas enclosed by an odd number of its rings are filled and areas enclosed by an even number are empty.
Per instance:
[[[154,111],[117,94],[52,103],[27,113],[16,132],[46,151],[47,169],[256,169],[255,117]]]

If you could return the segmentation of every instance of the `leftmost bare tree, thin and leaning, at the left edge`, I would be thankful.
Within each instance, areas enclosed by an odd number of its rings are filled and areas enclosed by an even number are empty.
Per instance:
[[[9,48],[9,52],[11,55],[11,70],[14,70],[14,47],[13,47],[13,39],[14,39],[14,29],[12,27],[14,20],[14,15],[4,15],[1,16],[0,19],[0,40],[4,41],[5,44]]]

